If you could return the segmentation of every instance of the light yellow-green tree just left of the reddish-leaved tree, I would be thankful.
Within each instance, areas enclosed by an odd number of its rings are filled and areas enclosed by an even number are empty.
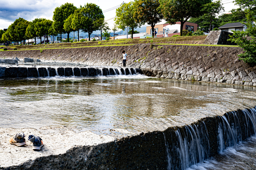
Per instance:
[[[114,19],[115,24],[119,29],[124,30],[129,27],[132,31],[132,39],[133,39],[133,31],[135,28],[140,27],[141,23],[136,19],[135,7],[133,2],[124,3],[118,9],[116,9],[116,18]]]

